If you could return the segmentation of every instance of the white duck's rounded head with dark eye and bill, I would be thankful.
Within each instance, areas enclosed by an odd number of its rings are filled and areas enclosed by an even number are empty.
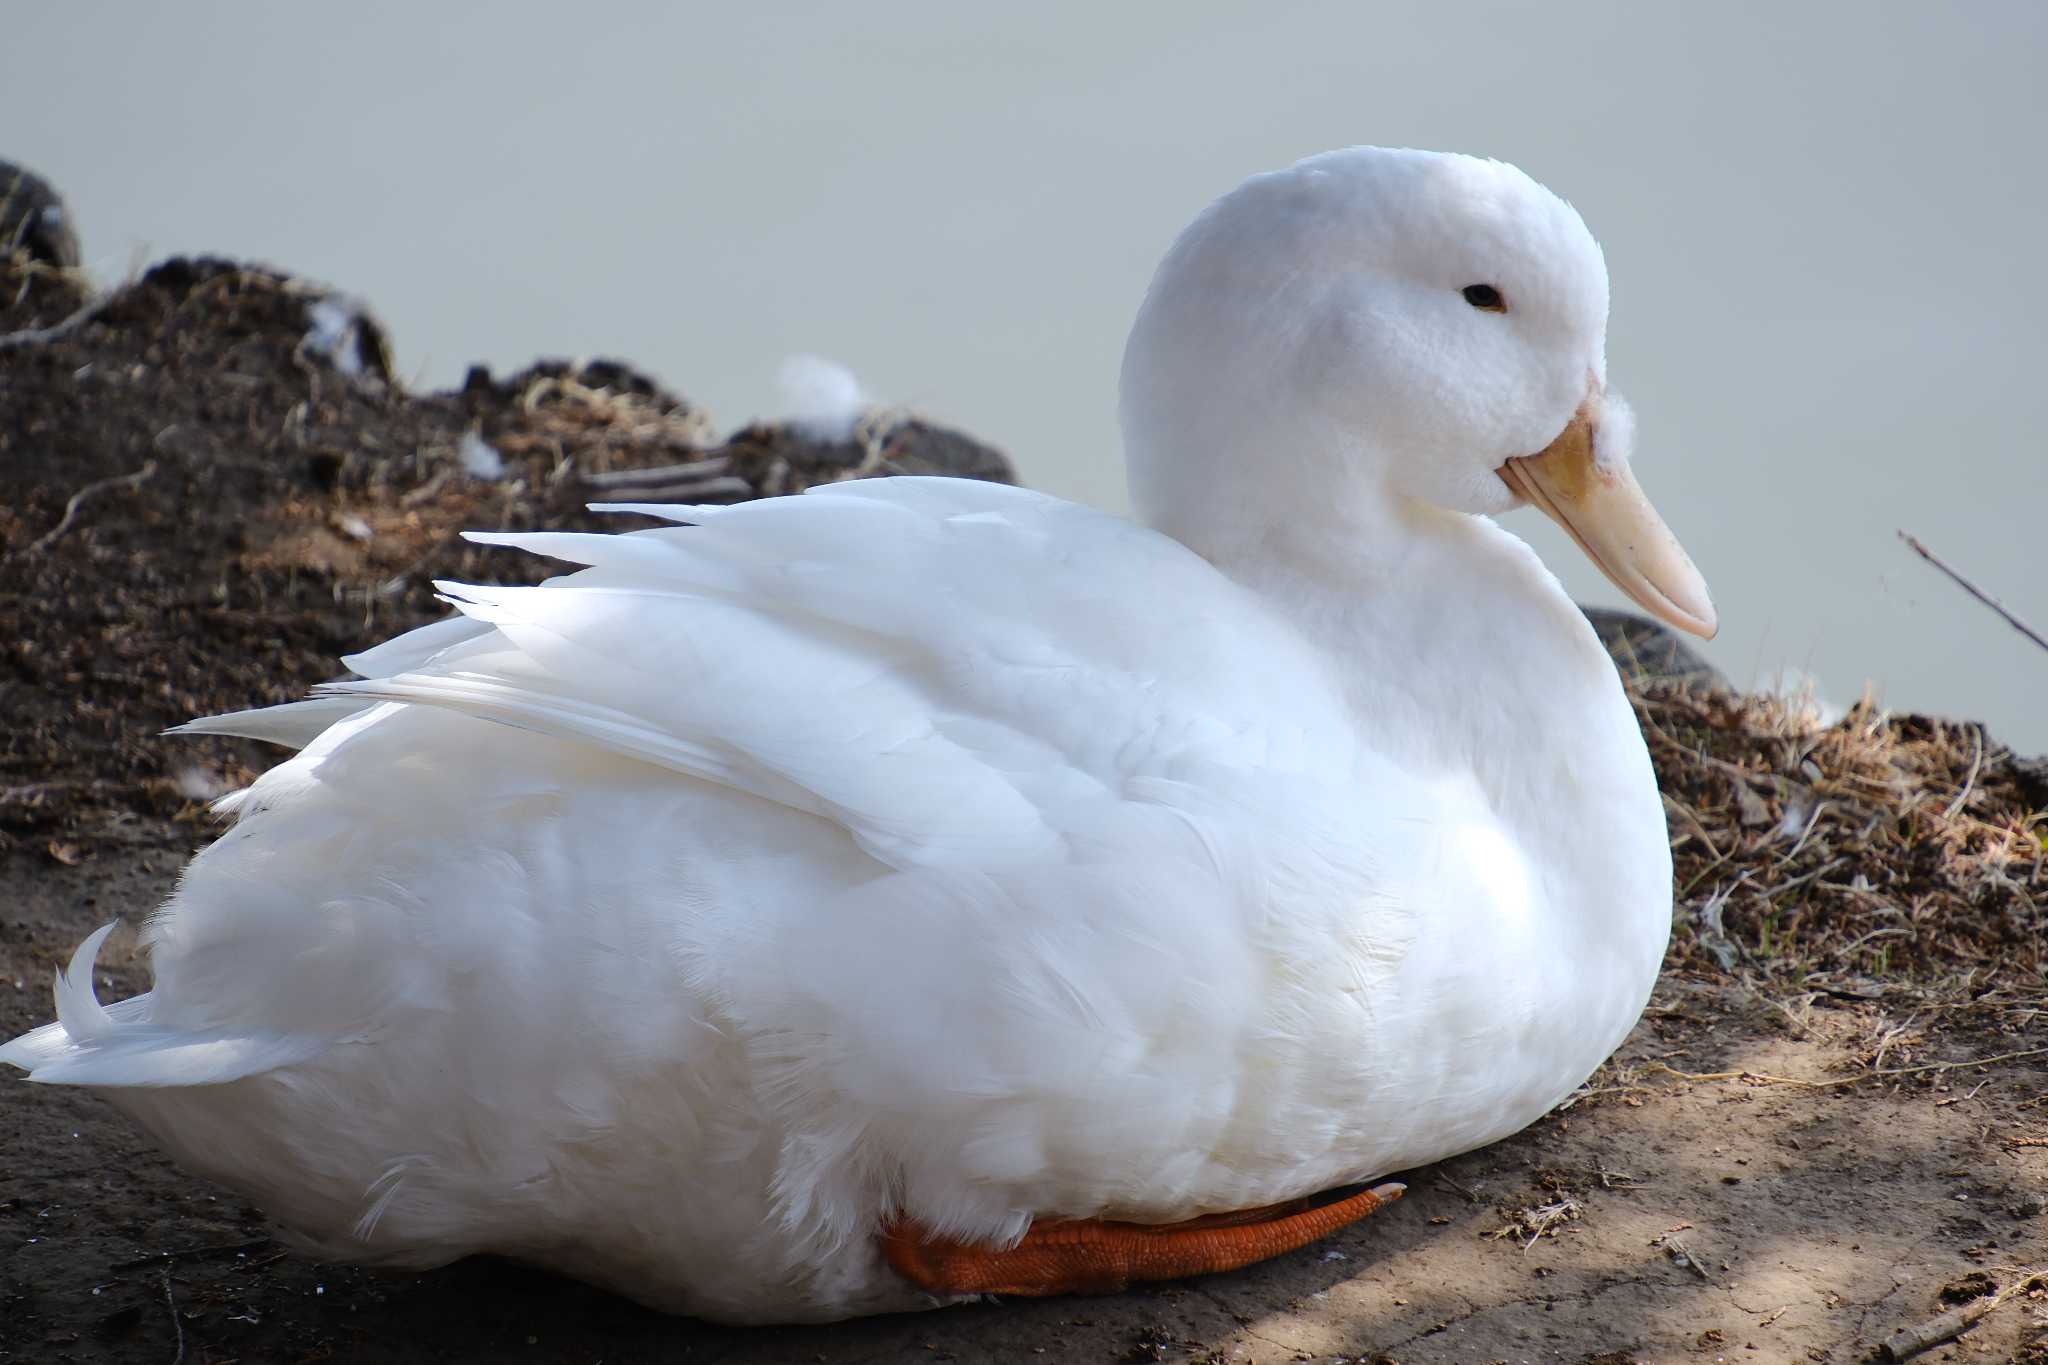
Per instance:
[[[1133,499],[1196,548],[1536,503],[1657,618],[1714,634],[1606,391],[1608,266],[1513,166],[1350,147],[1253,176],[1167,252],[1124,350]]]

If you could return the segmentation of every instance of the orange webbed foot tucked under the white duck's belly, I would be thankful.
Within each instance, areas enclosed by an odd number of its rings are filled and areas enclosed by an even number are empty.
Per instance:
[[[1376,1214],[1405,1189],[1386,1183],[1321,1205],[1294,1199],[1178,1224],[1055,1218],[1004,1250],[934,1236],[907,1218],[883,1224],[881,1236],[889,1265],[926,1293],[1116,1293],[1141,1279],[1214,1275],[1286,1254]]]

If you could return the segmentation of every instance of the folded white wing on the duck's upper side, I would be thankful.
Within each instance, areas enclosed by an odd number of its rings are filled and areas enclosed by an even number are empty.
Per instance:
[[[877,479],[686,526],[477,534],[584,565],[539,587],[442,583],[461,616],[295,708],[442,706],[840,823],[893,868],[1057,853],[1130,782],[1335,761],[1313,651],[1178,542],[1014,487]]]

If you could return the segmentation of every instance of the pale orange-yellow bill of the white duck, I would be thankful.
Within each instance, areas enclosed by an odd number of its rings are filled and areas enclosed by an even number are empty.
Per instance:
[[[1501,481],[1563,526],[1630,602],[1667,626],[1714,639],[1720,628],[1714,602],[1686,546],[1642,495],[1626,460],[1602,465],[1593,456],[1591,407],[1579,409],[1536,454],[1501,465]]]

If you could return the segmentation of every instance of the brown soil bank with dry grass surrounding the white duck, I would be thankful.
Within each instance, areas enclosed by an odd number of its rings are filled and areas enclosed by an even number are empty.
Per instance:
[[[594,495],[1008,473],[889,415],[836,446],[719,444],[618,364],[408,395],[371,319],[307,342],[324,297],[170,262],[23,338],[86,297],[0,268],[0,1038],[49,1015],[84,933],[162,898],[203,802],[274,753],[158,731],[299,696],[438,616],[434,577],[528,571],[457,530],[598,524]],[[504,477],[463,471],[465,432]],[[1823,726],[1700,677],[1636,694],[1681,888],[1645,1021],[1567,1109],[1409,1173],[1327,1244],[1106,1300],[711,1328],[494,1261],[299,1261],[100,1101],[10,1083],[0,1361],[1860,1361],[2003,1291],[1925,1359],[2048,1363],[2025,1279],[2048,1265],[2038,769],[1970,724]],[[109,997],[147,986],[129,943],[102,956]]]

